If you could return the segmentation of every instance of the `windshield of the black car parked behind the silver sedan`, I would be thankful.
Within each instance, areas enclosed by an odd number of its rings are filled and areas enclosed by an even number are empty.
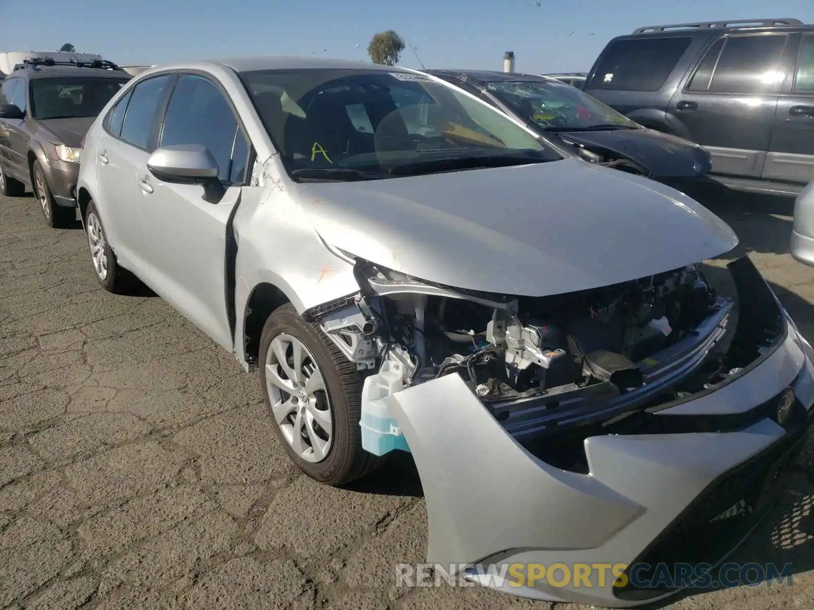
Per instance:
[[[487,88],[523,119],[532,120],[543,129],[638,127],[613,108],[564,83],[497,81],[487,83]]]

